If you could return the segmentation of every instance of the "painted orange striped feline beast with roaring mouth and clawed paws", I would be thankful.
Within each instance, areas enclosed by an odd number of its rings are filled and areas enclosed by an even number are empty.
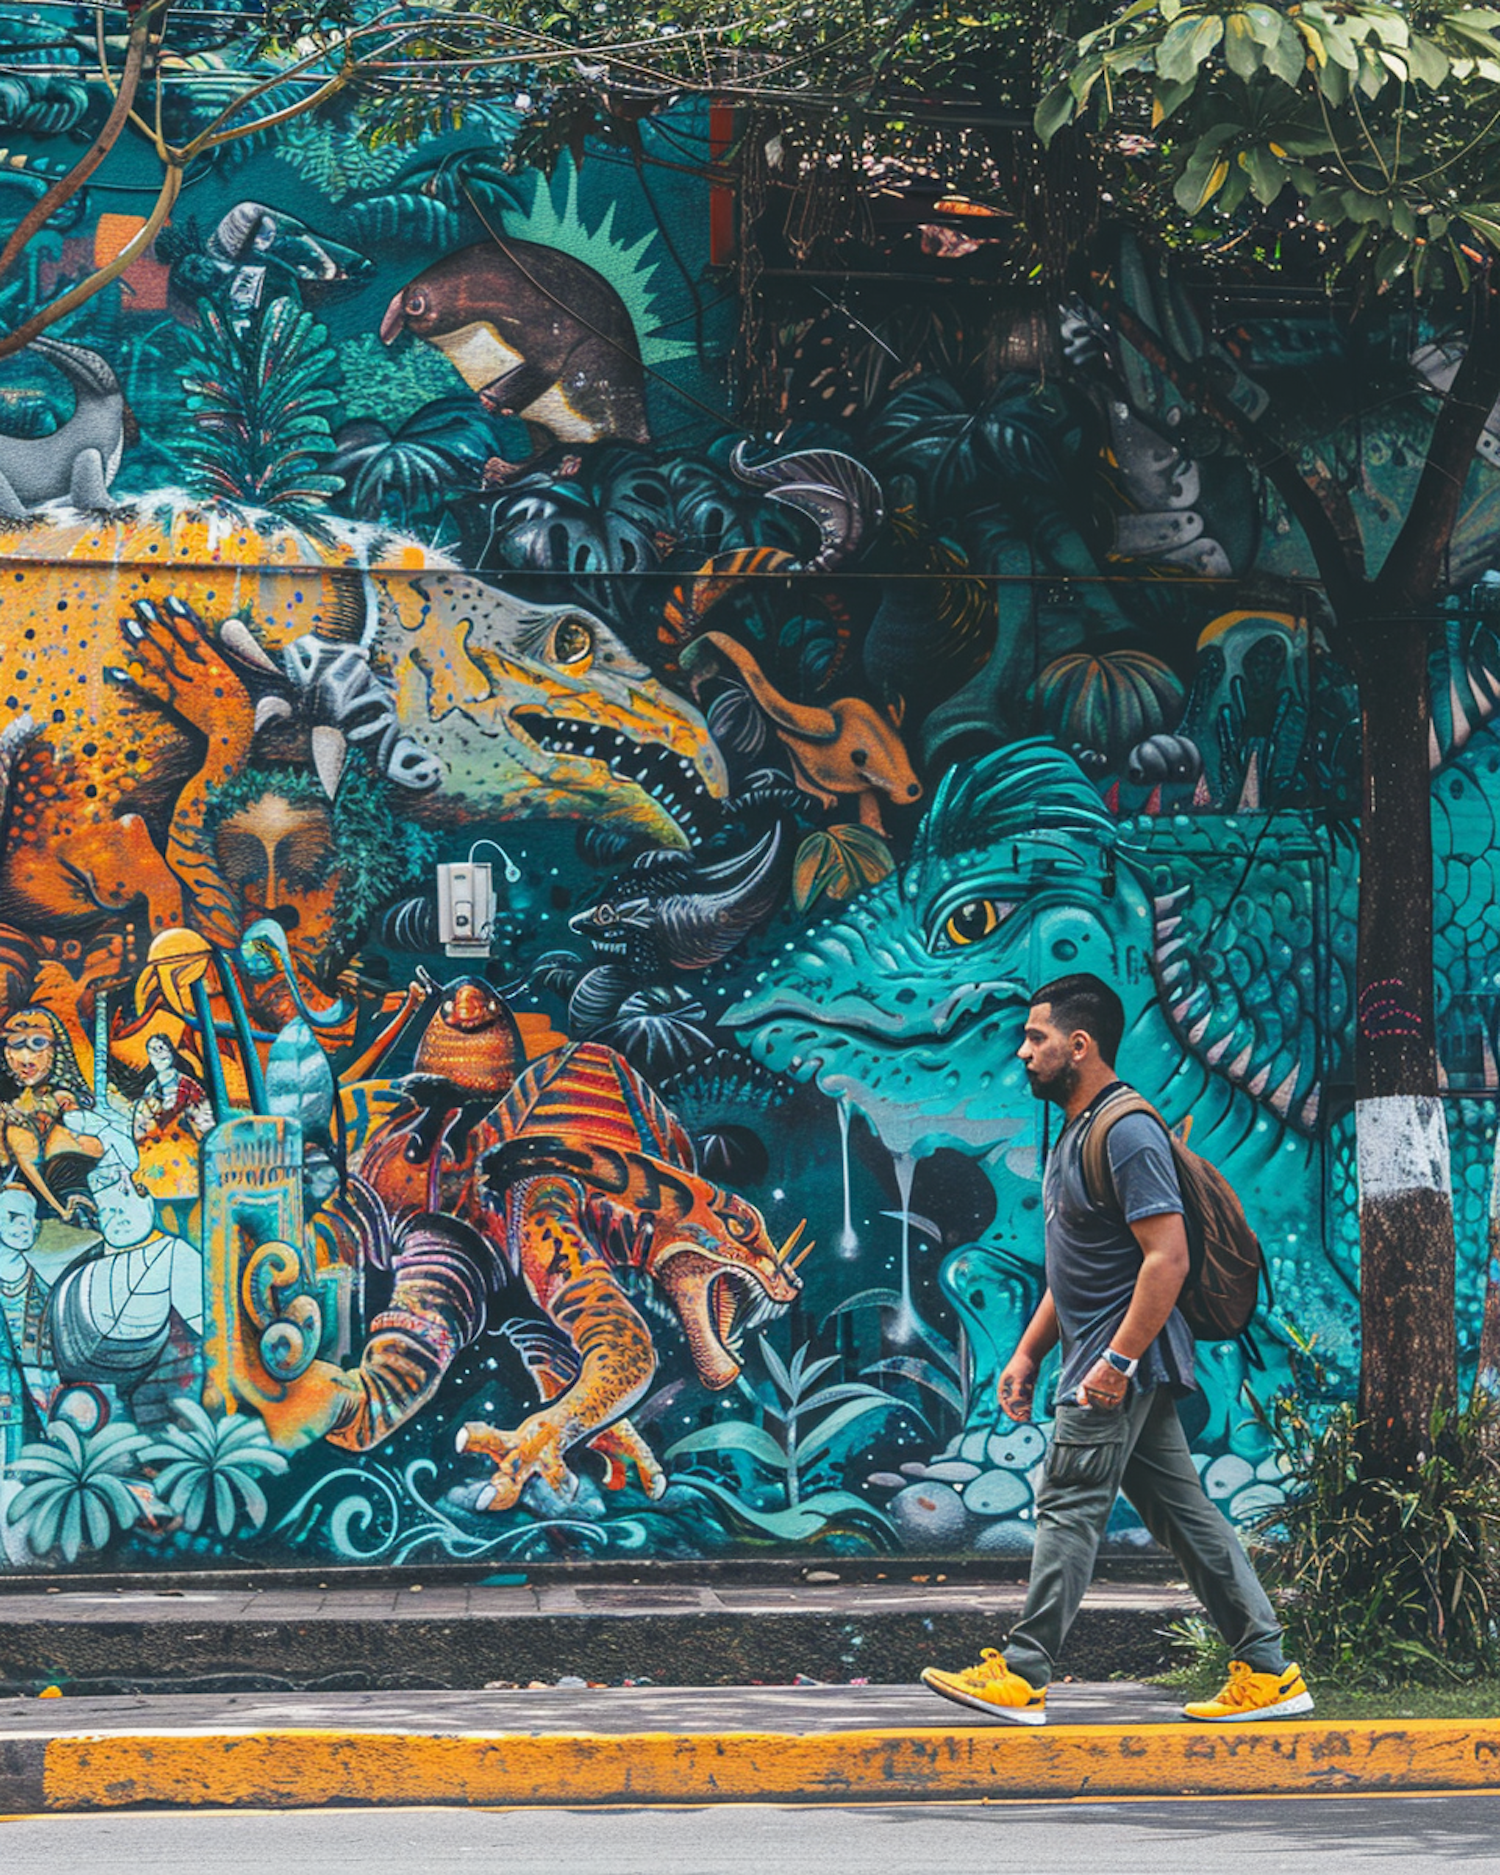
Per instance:
[[[491,1461],[480,1508],[506,1509],[529,1478],[570,1483],[568,1451],[587,1444],[619,1489],[634,1470],[666,1487],[630,1423],[656,1371],[651,1328],[626,1282],[671,1301],[699,1378],[739,1374],[744,1331],[786,1309],[801,1281],[759,1211],[699,1178],[681,1121],[600,1042],[534,1061],[465,1136],[461,1159],[424,1108],[390,1116],[360,1155],[360,1174],[398,1230],[390,1303],[369,1324],[354,1371],[317,1361],[285,1401],[261,1406],[278,1440],[328,1436],[368,1451],[424,1406],[458,1352],[484,1331],[488,1292],[516,1282],[538,1312],[508,1324],[542,1395],[518,1427],[471,1421],[461,1451]],[[441,1162],[411,1157],[422,1140]],[[411,1206],[428,1198],[429,1209]],[[801,1258],[799,1258],[801,1260]],[[523,1298],[518,1294],[518,1303]]]

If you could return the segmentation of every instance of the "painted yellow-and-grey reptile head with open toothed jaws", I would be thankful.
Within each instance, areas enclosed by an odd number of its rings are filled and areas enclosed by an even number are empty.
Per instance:
[[[465,574],[386,583],[377,656],[396,714],[474,818],[622,821],[692,846],[728,791],[698,711],[578,606]]]

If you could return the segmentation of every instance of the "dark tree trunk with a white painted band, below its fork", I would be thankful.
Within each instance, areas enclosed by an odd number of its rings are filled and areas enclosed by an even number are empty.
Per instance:
[[[1432,1011],[1431,621],[1354,621],[1365,780],[1359,827],[1356,1121],[1359,1418],[1386,1474],[1425,1449],[1459,1386],[1448,1125]]]

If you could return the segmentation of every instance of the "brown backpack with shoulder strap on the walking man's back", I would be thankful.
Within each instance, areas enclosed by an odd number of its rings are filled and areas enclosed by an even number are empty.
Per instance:
[[[1269,1273],[1260,1239],[1251,1230],[1245,1208],[1219,1170],[1189,1151],[1149,1101],[1134,1088],[1114,1088],[1088,1121],[1080,1159],[1089,1204],[1118,1204],[1110,1172],[1110,1127],[1127,1114],[1149,1114],[1172,1142],[1178,1183],[1183,1192],[1187,1226],[1187,1281],[1178,1309],[1198,1341],[1236,1341],[1245,1337],[1260,1301],[1260,1281]],[[1247,1352],[1252,1354],[1249,1342]],[[1252,1356],[1254,1358],[1254,1356]]]

